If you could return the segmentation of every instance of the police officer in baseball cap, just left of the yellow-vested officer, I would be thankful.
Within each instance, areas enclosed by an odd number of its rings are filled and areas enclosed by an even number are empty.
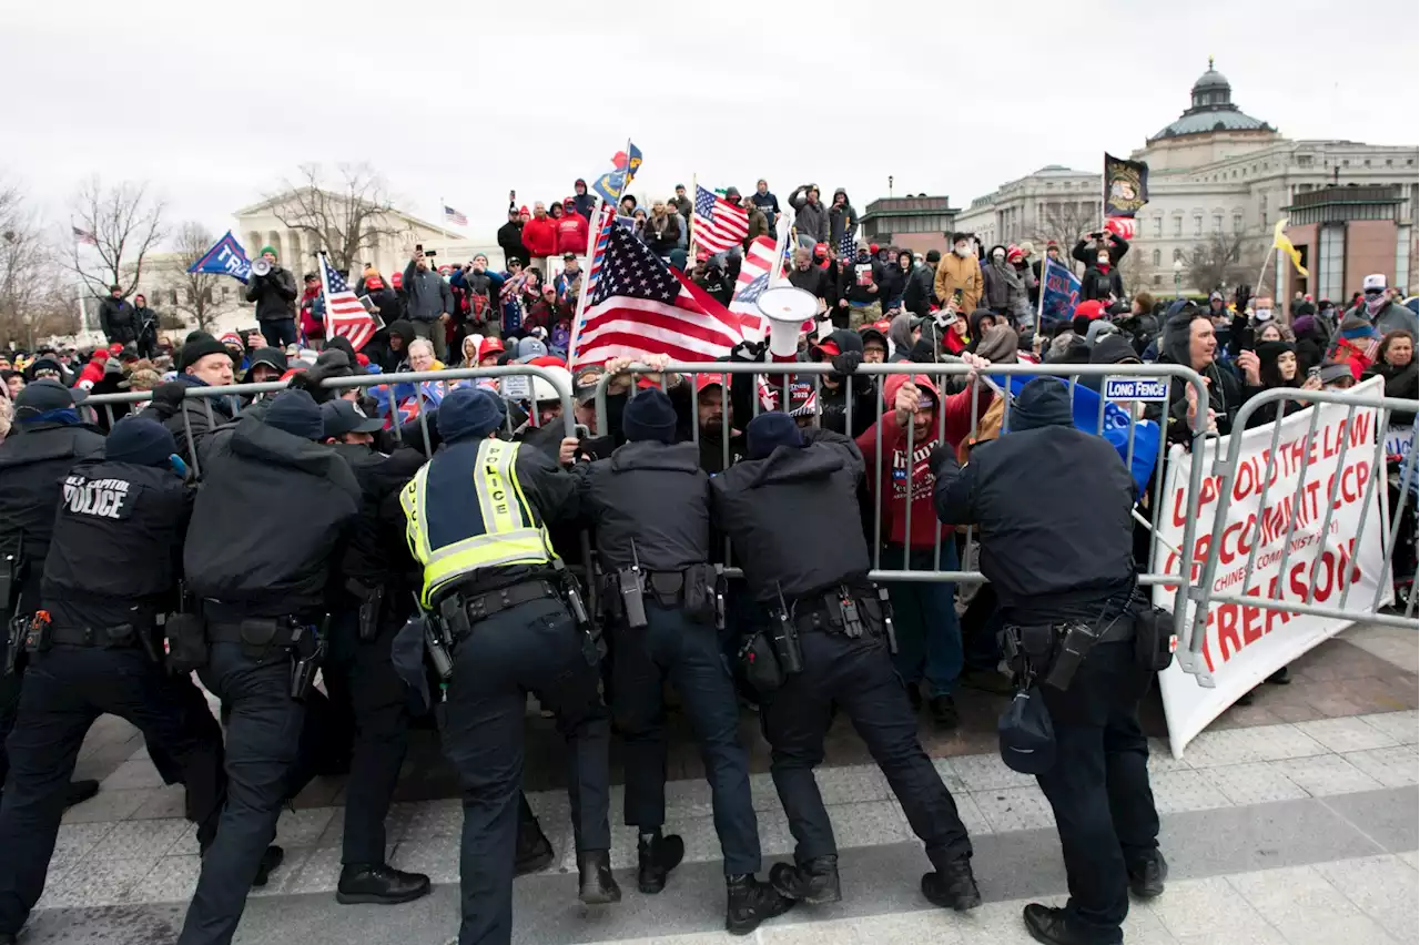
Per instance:
[[[349,464],[362,497],[361,516],[344,555],[345,586],[331,610],[329,653],[322,668],[335,711],[354,715],[335,898],[342,904],[409,902],[429,892],[429,877],[385,863],[385,817],[409,749],[405,684],[390,661],[390,644],[409,616],[412,589],[389,566],[385,549],[398,549],[398,534],[381,534],[379,508],[419,470],[423,455],[409,448],[389,457],[376,453],[375,433],[383,421],[366,417],[349,400],[322,403],[321,421],[325,443]]]

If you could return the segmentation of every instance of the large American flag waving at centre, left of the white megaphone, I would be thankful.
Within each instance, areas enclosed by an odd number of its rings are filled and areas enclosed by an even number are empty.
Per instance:
[[[606,227],[605,243],[569,358],[574,369],[646,355],[714,360],[743,341],[736,315],[669,270],[625,227]]]

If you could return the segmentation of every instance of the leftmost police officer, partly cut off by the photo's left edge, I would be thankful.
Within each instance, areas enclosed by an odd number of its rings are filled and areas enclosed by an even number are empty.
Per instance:
[[[80,421],[74,404],[84,399],[48,377],[30,382],[14,402],[14,431],[0,443],[0,610],[7,637],[0,667],[0,785],[9,762],[4,739],[20,704],[27,657],[17,653],[21,627],[40,607],[40,580],[54,534],[60,480],[80,460],[104,451],[104,436]],[[98,782],[67,786],[68,803],[98,792]]]

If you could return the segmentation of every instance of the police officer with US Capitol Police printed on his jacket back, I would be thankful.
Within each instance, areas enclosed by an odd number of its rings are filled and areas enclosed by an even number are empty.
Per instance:
[[[203,738],[185,724],[186,707],[159,657],[158,621],[178,583],[173,549],[192,507],[169,467],[176,448],[159,423],[128,417],[115,424],[102,458],[82,460],[62,477],[0,805],[0,941],[14,941],[44,890],[64,785],[99,715],[128,719],[166,749],[187,785],[199,843],[216,831],[220,735]]]

